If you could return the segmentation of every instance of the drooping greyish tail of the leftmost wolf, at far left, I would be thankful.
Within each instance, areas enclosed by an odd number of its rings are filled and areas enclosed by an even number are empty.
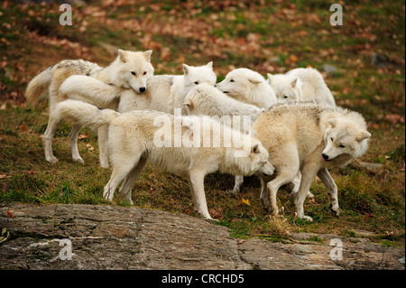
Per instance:
[[[50,87],[52,76],[53,76],[53,66],[48,67],[43,70],[40,74],[35,76],[25,90],[25,98],[27,98],[27,103],[35,104],[41,98],[42,94]]]

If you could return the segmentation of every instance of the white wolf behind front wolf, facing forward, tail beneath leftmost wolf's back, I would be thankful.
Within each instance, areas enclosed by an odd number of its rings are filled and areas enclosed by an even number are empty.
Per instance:
[[[118,112],[151,109],[173,114],[174,97],[180,101],[190,88],[197,85],[195,82],[209,82],[212,85],[216,83],[212,62],[199,67],[183,64],[183,69],[185,75],[151,76],[146,82],[148,89],[143,94],[135,93],[134,89],[106,85],[102,81],[83,75],[73,75],[66,79],[60,86],[60,91],[69,95],[69,98],[86,99],[86,102],[98,107],[106,107],[108,103],[118,102],[115,108]],[[106,135],[106,129],[106,126],[98,128],[99,135]],[[102,167],[108,167],[106,136],[99,137],[98,144],[100,163]]]

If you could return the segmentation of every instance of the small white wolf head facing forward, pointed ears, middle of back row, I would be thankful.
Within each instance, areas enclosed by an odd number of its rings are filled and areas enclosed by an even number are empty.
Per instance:
[[[183,92],[185,95],[198,84],[208,83],[214,86],[217,80],[216,73],[213,71],[212,61],[198,67],[183,64],[183,74],[185,77],[183,81]]]

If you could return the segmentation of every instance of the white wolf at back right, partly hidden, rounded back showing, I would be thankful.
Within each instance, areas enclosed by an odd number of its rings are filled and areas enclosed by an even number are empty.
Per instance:
[[[298,68],[276,75],[268,73],[268,84],[275,91],[278,102],[316,101],[336,107],[330,89],[316,69]]]

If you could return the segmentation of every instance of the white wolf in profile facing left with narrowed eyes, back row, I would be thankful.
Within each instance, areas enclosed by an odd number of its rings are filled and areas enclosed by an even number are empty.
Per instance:
[[[277,102],[275,92],[261,74],[246,68],[232,70],[216,87],[236,100],[268,108]]]

